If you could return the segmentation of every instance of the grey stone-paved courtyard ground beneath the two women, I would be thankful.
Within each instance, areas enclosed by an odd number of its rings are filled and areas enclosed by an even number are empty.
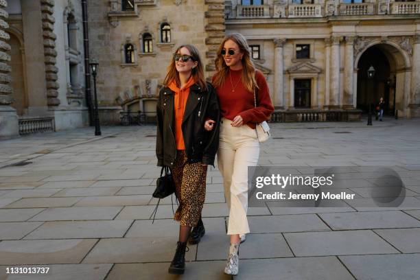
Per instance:
[[[420,119],[272,124],[261,165],[351,166],[345,207],[254,207],[235,279],[419,279]],[[0,279],[172,279],[178,224],[169,199],[148,220],[156,176],[155,128],[105,127],[0,141]],[[397,208],[366,206],[372,167],[395,166],[406,185]],[[222,179],[211,168],[207,233],[189,246],[185,279],[222,273],[229,244]],[[47,275],[6,275],[14,266]]]

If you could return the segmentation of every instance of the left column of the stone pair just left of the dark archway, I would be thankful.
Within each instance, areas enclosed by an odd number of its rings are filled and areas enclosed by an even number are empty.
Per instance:
[[[340,108],[340,40],[331,37],[329,108]]]

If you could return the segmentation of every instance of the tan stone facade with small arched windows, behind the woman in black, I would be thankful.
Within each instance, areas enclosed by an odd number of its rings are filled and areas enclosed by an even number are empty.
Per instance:
[[[222,0],[89,1],[101,122],[118,124],[121,108],[152,120],[167,66],[181,44],[198,47],[211,75],[224,28]]]

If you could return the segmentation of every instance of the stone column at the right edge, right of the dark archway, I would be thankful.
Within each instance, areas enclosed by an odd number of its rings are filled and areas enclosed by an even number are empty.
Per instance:
[[[412,72],[410,110],[412,117],[420,117],[420,35],[414,36],[412,45]]]

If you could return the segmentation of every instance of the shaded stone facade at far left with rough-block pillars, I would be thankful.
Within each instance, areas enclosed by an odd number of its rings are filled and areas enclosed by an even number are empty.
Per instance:
[[[0,137],[86,126],[81,1],[0,6]]]

